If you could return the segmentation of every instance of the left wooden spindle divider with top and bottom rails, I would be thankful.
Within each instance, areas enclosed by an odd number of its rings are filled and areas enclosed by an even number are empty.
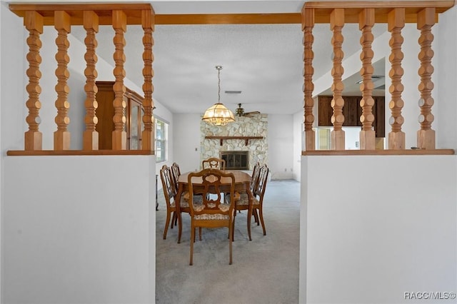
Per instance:
[[[128,25],[141,25],[144,29],[144,116],[142,121],[144,123],[144,130],[142,134],[141,151],[126,151],[131,154],[152,154],[154,153],[154,100],[152,93],[154,86],[152,85],[152,77],[154,72],[152,70],[152,63],[154,55],[152,54],[152,46],[154,39],[152,32],[154,31],[155,13],[150,4],[10,4],[11,11],[24,18],[24,26],[29,31],[29,38],[26,43],[29,46],[29,53],[27,60],[29,61],[29,69],[27,76],[29,76],[29,84],[26,90],[29,93],[29,99],[26,106],[29,109],[29,116],[26,117],[26,123],[29,125],[29,131],[24,135],[24,151],[31,151],[29,153],[9,153],[9,155],[77,155],[83,154],[116,154],[126,150],[126,102],[124,101],[124,93],[126,88],[124,86],[124,78],[126,72],[124,70],[124,63],[126,61],[126,54],[124,53],[124,46],[126,41],[124,34],[127,31]],[[96,131],[96,124],[98,118],[96,109],[98,103],[96,101],[96,78],[98,76],[96,70],[97,63],[97,40],[96,33],[99,31],[99,25],[111,25],[114,29],[114,78],[115,83],[113,91],[115,98],[114,105],[114,131],[112,134],[113,153],[108,151],[100,151],[99,149],[99,133]],[[41,87],[39,80],[41,78],[41,71],[39,66],[41,64],[41,56],[39,51],[41,49],[40,35],[43,33],[44,26],[54,26],[57,31],[56,38],[56,77],[57,83],[55,90],[57,98],[55,106],[57,115],[55,118],[57,131],[54,132],[54,150],[42,150],[42,134],[39,131],[39,124],[41,123],[39,117],[39,110],[41,102],[39,100]],[[70,132],[68,131],[69,108],[69,39],[68,34],[71,32],[71,26],[84,26],[86,31],[86,69],[84,75],[86,76],[86,83],[84,91],[86,93],[86,100],[84,108],[86,115],[84,116],[85,131],[82,134],[83,145],[82,151],[69,151],[70,149]],[[34,153],[34,151],[41,151]],[[59,153],[55,153],[58,152]],[[20,152],[20,151],[16,151]],[[54,152],[54,153],[51,153]],[[121,153],[124,154],[124,153]]]

